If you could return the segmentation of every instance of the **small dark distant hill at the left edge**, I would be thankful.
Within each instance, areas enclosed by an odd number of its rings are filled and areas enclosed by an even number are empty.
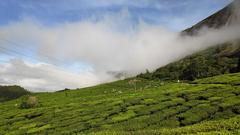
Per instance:
[[[0,102],[16,99],[26,94],[29,92],[20,86],[0,86]]]

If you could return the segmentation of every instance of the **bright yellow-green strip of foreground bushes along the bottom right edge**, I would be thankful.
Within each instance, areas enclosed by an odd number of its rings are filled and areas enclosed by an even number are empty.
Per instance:
[[[140,130],[140,131],[100,131],[90,135],[238,135],[240,133],[240,117],[231,119],[207,121],[199,124],[180,127],[180,128],[162,128],[161,130]]]

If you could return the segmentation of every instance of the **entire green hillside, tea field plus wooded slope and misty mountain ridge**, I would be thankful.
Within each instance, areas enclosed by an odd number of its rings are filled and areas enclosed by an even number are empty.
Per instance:
[[[195,36],[205,26],[229,24],[231,6],[183,31],[183,36]],[[7,91],[0,87],[0,135],[238,135],[237,72],[240,40],[152,73],[89,88],[28,93],[17,86]]]

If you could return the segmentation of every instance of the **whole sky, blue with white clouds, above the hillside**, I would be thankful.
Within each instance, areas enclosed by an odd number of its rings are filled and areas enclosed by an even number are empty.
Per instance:
[[[54,91],[153,71],[222,41],[178,32],[230,2],[0,0],[0,85]]]

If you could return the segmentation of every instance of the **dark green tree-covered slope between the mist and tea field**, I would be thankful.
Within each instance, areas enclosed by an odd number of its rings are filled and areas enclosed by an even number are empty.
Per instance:
[[[179,61],[161,67],[153,73],[146,72],[138,77],[160,80],[195,80],[240,71],[238,45],[222,44],[208,48]]]

